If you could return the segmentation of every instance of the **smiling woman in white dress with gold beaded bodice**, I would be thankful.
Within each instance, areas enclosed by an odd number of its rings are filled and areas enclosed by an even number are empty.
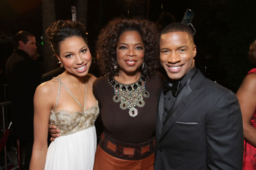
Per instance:
[[[59,20],[46,31],[65,72],[35,92],[35,141],[30,169],[93,169],[99,106],[93,96],[95,76],[88,74],[92,56],[83,24]],[[61,129],[47,148],[49,122]]]

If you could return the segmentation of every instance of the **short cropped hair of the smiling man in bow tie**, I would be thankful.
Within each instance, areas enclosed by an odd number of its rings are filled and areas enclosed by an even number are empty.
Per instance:
[[[163,34],[168,34],[170,32],[187,32],[189,37],[191,38],[192,42],[194,42],[194,34],[192,29],[186,25],[186,24],[181,24],[179,22],[173,22],[172,24],[167,25],[164,27],[164,29],[161,31],[159,38]]]

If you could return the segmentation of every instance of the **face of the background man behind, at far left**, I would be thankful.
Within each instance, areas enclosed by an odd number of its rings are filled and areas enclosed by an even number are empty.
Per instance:
[[[28,36],[28,42],[24,44],[22,41],[19,43],[20,49],[28,53],[30,57],[36,55],[36,39],[33,36]]]

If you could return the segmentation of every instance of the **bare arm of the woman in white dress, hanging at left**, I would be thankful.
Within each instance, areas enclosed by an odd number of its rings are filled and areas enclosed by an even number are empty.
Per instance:
[[[52,96],[44,85],[37,87],[34,96],[34,145],[29,169],[44,169],[47,154],[49,116]]]

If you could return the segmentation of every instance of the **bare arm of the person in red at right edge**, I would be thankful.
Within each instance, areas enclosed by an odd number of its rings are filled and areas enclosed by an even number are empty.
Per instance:
[[[256,73],[249,74],[244,78],[236,95],[243,116],[244,138],[256,147],[256,129],[250,124],[256,109]]]

